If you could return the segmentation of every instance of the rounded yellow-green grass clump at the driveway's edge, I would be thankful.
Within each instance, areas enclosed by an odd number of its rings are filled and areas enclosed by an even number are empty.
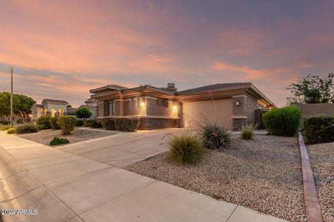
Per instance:
[[[195,164],[205,154],[203,140],[195,133],[171,135],[169,146],[170,160],[180,164]]]

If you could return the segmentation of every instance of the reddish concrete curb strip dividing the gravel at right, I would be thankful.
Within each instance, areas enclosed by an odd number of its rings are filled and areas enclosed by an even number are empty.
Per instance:
[[[312,165],[308,157],[303,135],[298,133],[299,147],[301,148],[301,169],[303,171],[303,188],[306,218],[308,222],[324,222],[321,214],[315,178],[313,177]]]

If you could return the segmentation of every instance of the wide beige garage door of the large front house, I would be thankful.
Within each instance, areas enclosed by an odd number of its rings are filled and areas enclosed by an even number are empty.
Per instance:
[[[183,103],[182,112],[182,127],[196,127],[196,121],[205,123],[207,119],[208,121],[218,121],[229,129],[232,128],[232,99]]]

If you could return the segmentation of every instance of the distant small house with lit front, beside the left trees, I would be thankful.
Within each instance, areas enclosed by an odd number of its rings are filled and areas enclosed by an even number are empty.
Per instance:
[[[38,117],[61,117],[67,114],[68,103],[63,100],[43,99],[42,104],[34,104],[31,108],[32,120]]]

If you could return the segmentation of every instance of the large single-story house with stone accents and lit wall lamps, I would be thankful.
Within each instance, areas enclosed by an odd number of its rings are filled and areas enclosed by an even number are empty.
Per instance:
[[[238,129],[246,121],[255,121],[255,110],[276,107],[252,83],[222,83],[180,92],[173,83],[166,88],[106,85],[90,93],[91,99],[99,101],[98,119],[139,117],[138,129],[193,127],[205,121]]]

